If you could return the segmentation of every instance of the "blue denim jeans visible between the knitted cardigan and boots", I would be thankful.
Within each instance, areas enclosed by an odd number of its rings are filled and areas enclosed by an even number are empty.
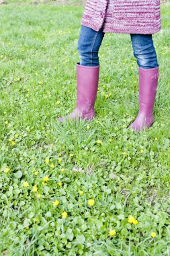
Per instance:
[[[103,28],[95,31],[87,26],[81,25],[81,32],[78,40],[78,51],[80,65],[99,65],[99,47],[101,46],[105,33]],[[134,57],[138,66],[144,69],[158,67],[157,53],[153,45],[152,34],[130,34]]]

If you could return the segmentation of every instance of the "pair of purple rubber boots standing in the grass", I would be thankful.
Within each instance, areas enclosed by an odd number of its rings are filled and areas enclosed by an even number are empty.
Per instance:
[[[153,108],[157,92],[159,67],[143,69],[139,73],[139,112],[135,121],[129,126],[135,131],[151,127],[154,122]],[[94,104],[99,84],[99,65],[89,67],[77,63],[77,104],[73,112],[66,117],[60,117],[58,122],[67,119],[93,120]]]

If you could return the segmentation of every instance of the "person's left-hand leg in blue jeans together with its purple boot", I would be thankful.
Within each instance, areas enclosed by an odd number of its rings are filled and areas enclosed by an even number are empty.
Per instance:
[[[81,26],[78,40],[80,63],[77,63],[77,104],[75,109],[64,119],[93,120],[95,117],[94,104],[99,83],[99,47],[103,40],[102,28],[99,31]]]

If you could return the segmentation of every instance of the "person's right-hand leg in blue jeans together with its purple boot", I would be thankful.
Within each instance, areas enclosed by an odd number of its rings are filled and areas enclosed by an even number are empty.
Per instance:
[[[151,34],[131,34],[134,57],[139,73],[139,112],[130,125],[135,131],[150,127],[154,122],[153,108],[159,77],[157,54]]]

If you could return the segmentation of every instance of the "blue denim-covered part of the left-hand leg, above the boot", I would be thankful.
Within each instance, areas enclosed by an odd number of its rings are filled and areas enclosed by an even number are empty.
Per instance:
[[[81,32],[78,40],[80,65],[99,65],[98,53],[104,35],[105,33],[102,31],[102,28],[99,31],[95,31],[89,27],[81,26]]]

